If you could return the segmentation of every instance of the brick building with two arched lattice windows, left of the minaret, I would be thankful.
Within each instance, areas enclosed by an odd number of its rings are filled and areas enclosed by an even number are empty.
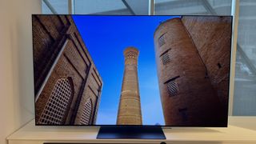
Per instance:
[[[35,121],[92,125],[102,78],[69,15],[33,15]]]

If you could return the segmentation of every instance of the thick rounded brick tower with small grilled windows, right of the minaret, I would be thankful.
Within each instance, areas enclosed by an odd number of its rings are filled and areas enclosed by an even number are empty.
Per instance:
[[[162,22],[154,33],[154,44],[166,125],[224,126],[226,117],[209,69],[182,20]]]

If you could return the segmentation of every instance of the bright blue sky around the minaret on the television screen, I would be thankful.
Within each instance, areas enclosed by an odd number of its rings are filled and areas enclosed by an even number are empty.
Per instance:
[[[154,30],[173,16],[72,16],[103,80],[97,125],[116,124],[124,71],[123,50],[135,46],[143,125],[164,125],[154,57]]]

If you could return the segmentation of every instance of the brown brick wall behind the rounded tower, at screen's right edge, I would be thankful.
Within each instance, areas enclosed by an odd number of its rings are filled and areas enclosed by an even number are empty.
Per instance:
[[[222,106],[227,109],[232,32],[231,17],[201,16],[193,18],[184,16],[182,22],[190,33],[194,45],[207,67],[210,82],[214,89],[218,91]]]

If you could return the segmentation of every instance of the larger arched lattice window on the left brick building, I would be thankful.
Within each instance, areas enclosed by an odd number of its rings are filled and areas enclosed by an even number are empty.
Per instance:
[[[45,109],[39,118],[40,124],[63,124],[63,118],[70,103],[71,94],[73,94],[68,78],[60,78],[54,85],[50,98],[46,103]]]

